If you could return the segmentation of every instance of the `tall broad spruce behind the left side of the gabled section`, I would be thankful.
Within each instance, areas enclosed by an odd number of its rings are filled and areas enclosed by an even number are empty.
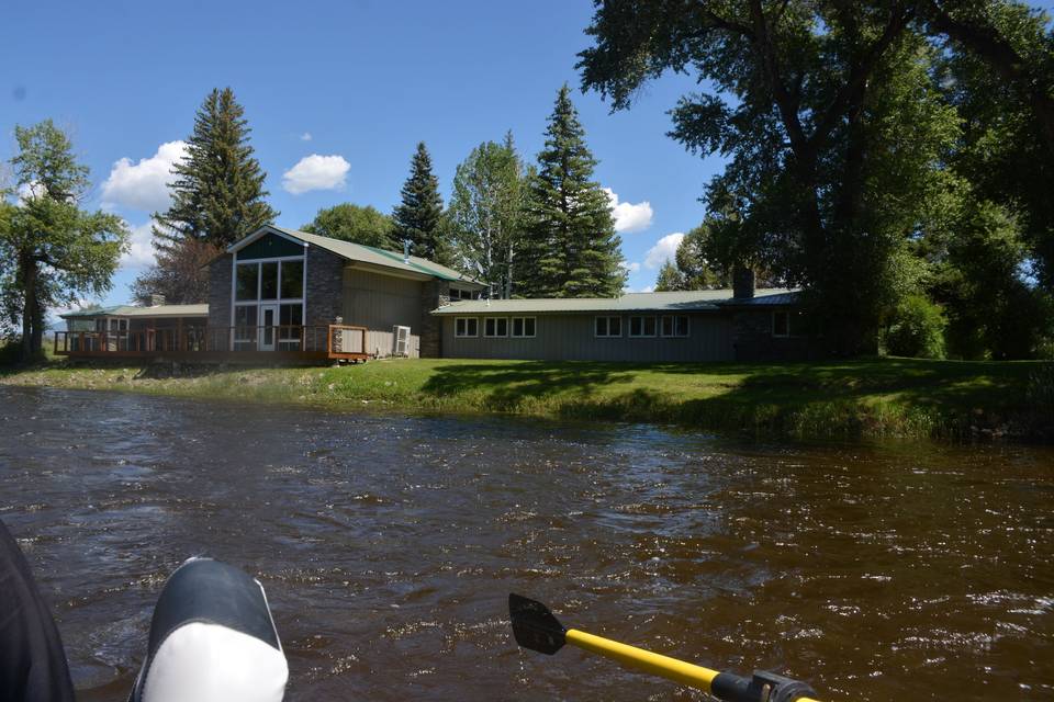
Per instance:
[[[264,200],[267,173],[253,156],[244,114],[229,88],[205,98],[187,140],[187,158],[172,169],[172,204],[154,215],[158,248],[171,249],[183,239],[225,248],[278,216]]]

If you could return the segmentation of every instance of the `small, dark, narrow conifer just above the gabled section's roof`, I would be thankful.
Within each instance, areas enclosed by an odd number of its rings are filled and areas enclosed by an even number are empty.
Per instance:
[[[445,236],[447,227],[444,226],[439,181],[431,172],[431,157],[424,141],[417,144],[402,196],[403,201],[392,213],[395,240],[400,244],[410,241],[410,252],[414,256],[449,263],[450,247]]]

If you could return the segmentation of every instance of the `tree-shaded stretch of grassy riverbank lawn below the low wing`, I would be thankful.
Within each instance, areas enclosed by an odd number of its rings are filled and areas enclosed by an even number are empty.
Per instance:
[[[1042,420],[1024,401],[1036,365],[911,359],[781,364],[468,362],[437,369],[423,390],[436,396],[478,393],[492,410],[551,403],[548,411],[574,419],[803,437],[961,435],[978,426],[1005,424],[1007,418],[1028,424]],[[697,392],[691,388],[692,376],[698,380]]]

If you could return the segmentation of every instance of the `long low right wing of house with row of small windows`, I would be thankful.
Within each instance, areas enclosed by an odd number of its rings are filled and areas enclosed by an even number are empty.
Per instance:
[[[794,291],[708,290],[468,301],[433,315],[446,358],[685,363],[807,358],[796,308]]]

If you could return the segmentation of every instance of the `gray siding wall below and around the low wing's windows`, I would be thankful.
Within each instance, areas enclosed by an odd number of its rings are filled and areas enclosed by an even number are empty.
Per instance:
[[[719,315],[688,315],[688,336],[684,338],[629,337],[629,315],[623,317],[623,336],[593,336],[594,315],[536,315],[532,339],[453,336],[455,317],[442,317],[442,355],[451,359],[526,359],[541,361],[636,361],[692,362],[730,361],[732,325]],[[504,315],[503,315],[504,316]]]

